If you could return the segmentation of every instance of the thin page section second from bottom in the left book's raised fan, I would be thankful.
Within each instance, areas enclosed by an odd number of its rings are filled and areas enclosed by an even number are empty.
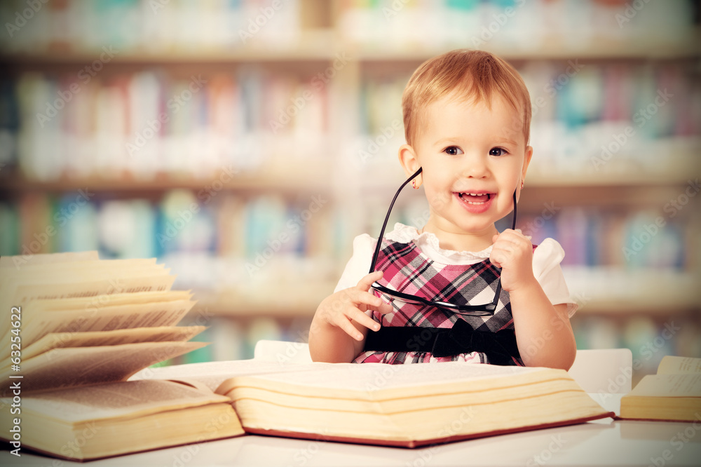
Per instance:
[[[27,360],[53,348],[115,346],[135,342],[189,341],[205,329],[207,329],[206,326],[158,326],[111,331],[52,332],[34,344],[23,348],[22,359]],[[4,369],[10,365],[11,360],[6,359],[0,364],[0,368]]]

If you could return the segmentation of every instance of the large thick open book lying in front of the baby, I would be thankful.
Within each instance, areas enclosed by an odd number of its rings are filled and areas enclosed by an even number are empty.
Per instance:
[[[247,433],[418,447],[613,417],[564,370],[241,360],[147,369],[233,401]]]

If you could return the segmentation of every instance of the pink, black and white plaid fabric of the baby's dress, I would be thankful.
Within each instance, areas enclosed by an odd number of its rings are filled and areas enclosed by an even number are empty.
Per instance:
[[[382,241],[377,258],[377,271],[384,276],[379,283],[393,290],[455,304],[485,304],[494,300],[499,269],[489,259],[476,264],[440,264],[430,259],[413,241],[401,243]],[[486,292],[485,292],[486,291]],[[482,292],[482,293],[480,293]],[[375,292],[378,297],[386,297]],[[476,300],[475,297],[479,295]],[[408,304],[390,300],[394,313],[385,315],[374,311],[372,318],[382,326],[414,326],[451,328],[458,320],[465,320],[473,330],[497,332],[513,330],[509,292],[501,290],[496,312],[492,316],[463,316],[449,313],[435,306]],[[372,332],[372,331],[370,331]],[[455,356],[435,357],[430,352],[416,351],[363,351],[353,363],[428,363],[461,360],[470,363],[490,363],[482,352],[461,353]],[[513,365],[524,365],[519,356],[512,356]]]

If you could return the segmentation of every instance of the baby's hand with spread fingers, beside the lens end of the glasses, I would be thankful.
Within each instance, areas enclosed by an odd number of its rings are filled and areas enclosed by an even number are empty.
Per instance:
[[[380,313],[394,311],[390,304],[368,292],[372,283],[381,278],[382,271],[375,271],[360,279],[355,287],[339,290],[329,295],[319,304],[315,318],[320,318],[329,325],[340,327],[357,341],[363,339],[363,334],[353,326],[351,320],[374,331],[379,330],[379,323],[367,316],[365,311],[369,309]]]

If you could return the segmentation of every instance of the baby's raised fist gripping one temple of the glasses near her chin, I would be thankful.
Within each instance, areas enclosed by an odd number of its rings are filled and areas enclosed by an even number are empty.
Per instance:
[[[511,292],[536,280],[533,276],[533,244],[521,229],[506,229],[492,237],[489,261],[501,268],[501,287]]]

